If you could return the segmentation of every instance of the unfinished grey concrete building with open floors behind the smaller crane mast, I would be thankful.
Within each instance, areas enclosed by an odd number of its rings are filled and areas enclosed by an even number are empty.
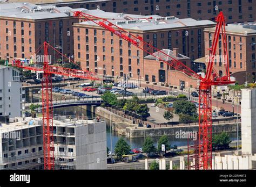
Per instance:
[[[55,169],[106,169],[105,121],[53,120]],[[16,118],[0,126],[1,169],[43,169],[42,118]]]

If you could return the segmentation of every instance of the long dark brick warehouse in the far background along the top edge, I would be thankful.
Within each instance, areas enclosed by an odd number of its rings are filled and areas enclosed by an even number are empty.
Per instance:
[[[54,1],[53,1],[54,2]],[[49,3],[48,3],[49,4]],[[136,15],[175,16],[196,20],[214,20],[219,11],[227,17],[227,23],[256,20],[256,0],[106,0],[51,3],[71,8],[100,9],[107,12]]]

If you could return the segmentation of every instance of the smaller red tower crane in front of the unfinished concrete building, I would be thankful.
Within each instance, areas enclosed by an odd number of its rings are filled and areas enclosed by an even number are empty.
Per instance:
[[[22,63],[21,60],[15,60],[14,66],[33,71],[43,71],[42,80],[42,113],[43,113],[43,151],[44,151],[44,169],[54,169],[54,149],[53,149],[53,105],[52,105],[52,78],[51,74],[72,76],[79,78],[86,78],[90,80],[97,80],[96,75],[90,71],[69,69],[63,67],[56,67],[49,65],[48,60],[48,49],[55,50],[60,55],[63,55],[66,59],[69,59],[64,54],[58,52],[55,48],[44,42],[36,51],[40,51],[44,47],[44,62],[43,66],[39,64],[26,64]],[[72,63],[74,61],[70,60]],[[75,63],[77,64],[77,63]]]

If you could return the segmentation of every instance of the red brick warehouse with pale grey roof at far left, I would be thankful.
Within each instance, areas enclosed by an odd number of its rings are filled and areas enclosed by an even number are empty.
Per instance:
[[[70,14],[70,10],[85,9],[31,3],[1,4],[0,59],[29,59],[44,41],[72,58],[73,24],[79,21]],[[60,58],[52,50],[49,50],[49,54],[52,63]]]

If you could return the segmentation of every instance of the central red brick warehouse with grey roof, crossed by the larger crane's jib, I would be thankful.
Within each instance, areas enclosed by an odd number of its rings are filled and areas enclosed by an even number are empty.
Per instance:
[[[193,61],[204,56],[204,28],[215,26],[210,20],[194,20],[191,18],[153,16],[153,19],[139,15],[95,10],[92,15],[109,19],[113,24],[130,33],[140,36],[158,49],[179,48],[182,55]],[[142,49],[129,44],[125,40],[105,31],[92,21],[74,24],[75,61],[80,61],[83,68],[95,71],[98,75],[122,77],[124,74],[145,80],[144,62],[148,54]],[[191,63],[187,63],[191,67]],[[153,69],[152,71],[158,71]],[[157,74],[156,74],[157,75]]]

